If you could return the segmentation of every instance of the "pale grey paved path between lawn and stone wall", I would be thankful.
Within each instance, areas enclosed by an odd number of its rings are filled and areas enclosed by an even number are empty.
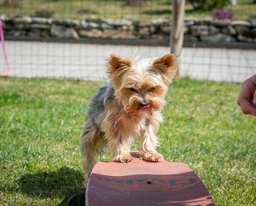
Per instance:
[[[6,41],[12,77],[47,77],[101,80],[110,54],[143,57],[169,53],[169,47],[70,44]],[[6,71],[0,49],[0,73]],[[184,48],[182,76],[225,82],[242,82],[256,73],[256,50]]]

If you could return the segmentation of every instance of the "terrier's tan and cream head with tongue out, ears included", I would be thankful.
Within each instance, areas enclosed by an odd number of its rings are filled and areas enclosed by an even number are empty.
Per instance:
[[[173,54],[141,61],[111,55],[107,65],[116,98],[121,100],[129,115],[140,112],[152,115],[154,110],[161,110],[168,85],[176,71]]]

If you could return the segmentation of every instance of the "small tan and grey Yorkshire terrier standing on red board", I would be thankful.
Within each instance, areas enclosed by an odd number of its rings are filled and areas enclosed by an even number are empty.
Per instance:
[[[173,54],[145,60],[110,56],[109,82],[92,98],[81,135],[86,180],[105,146],[112,151],[113,161],[130,162],[130,145],[137,135],[144,161],[163,160],[156,151],[157,131],[163,122],[164,97],[176,70]]]

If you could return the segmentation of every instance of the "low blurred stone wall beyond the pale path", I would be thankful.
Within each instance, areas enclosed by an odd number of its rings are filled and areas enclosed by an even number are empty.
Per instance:
[[[167,19],[46,19],[2,16],[7,37],[32,38],[102,38],[102,39],[168,39],[171,22]],[[256,19],[249,21],[186,19],[185,41],[255,42]]]

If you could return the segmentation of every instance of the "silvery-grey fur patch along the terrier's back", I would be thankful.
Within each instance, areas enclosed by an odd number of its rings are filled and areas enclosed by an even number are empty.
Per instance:
[[[115,98],[115,92],[110,82],[106,82],[99,88],[97,94],[92,97],[91,106],[87,112],[87,120],[97,124],[97,119],[100,114],[106,111],[106,101],[110,98]]]

